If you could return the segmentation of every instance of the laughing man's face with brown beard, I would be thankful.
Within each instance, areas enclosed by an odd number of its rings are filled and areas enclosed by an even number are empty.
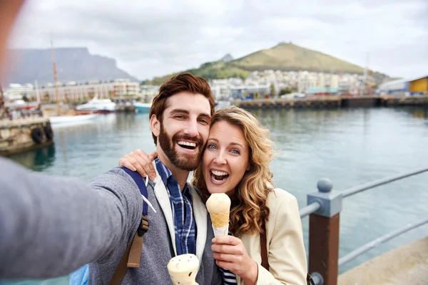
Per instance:
[[[181,170],[195,170],[201,162],[210,133],[210,103],[202,94],[177,93],[158,122],[158,144],[170,162]]]

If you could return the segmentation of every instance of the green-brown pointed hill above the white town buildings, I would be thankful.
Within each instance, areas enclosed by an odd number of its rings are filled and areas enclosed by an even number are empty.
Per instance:
[[[187,70],[206,79],[247,77],[251,71],[266,69],[280,71],[318,71],[325,73],[363,73],[364,68],[319,51],[302,48],[293,43],[280,43],[269,49],[250,53],[232,61],[203,63],[199,68]],[[154,78],[149,84],[159,85],[177,73]]]

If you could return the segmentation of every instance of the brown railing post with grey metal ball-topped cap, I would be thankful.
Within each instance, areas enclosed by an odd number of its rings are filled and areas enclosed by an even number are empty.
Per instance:
[[[307,204],[321,205],[309,216],[309,272],[321,274],[325,285],[337,285],[339,273],[339,228],[342,193],[332,191],[332,182],[318,181],[318,192],[307,195]]]

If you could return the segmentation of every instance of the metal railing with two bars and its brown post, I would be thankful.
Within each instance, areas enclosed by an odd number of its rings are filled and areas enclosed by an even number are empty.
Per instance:
[[[428,223],[428,217],[425,217],[417,222],[407,224],[400,229],[396,229],[393,232],[374,239],[372,242],[368,242],[339,259],[339,215],[342,211],[342,199],[380,185],[385,185],[427,171],[428,167],[424,167],[399,175],[385,177],[364,185],[351,187],[343,191],[332,191],[333,185],[328,179],[318,181],[318,192],[307,195],[307,206],[302,207],[299,211],[301,218],[310,215],[309,271],[313,276],[315,284],[336,285],[339,266],[377,247],[379,244],[387,242],[389,239],[398,237],[404,232],[408,232],[411,229]],[[315,249],[311,249],[311,246]]]

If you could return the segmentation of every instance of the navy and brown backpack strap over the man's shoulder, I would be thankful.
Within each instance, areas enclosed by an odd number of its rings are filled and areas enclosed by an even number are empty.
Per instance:
[[[122,169],[136,182],[141,195],[148,199],[148,192],[143,177],[138,172],[133,172],[126,167]],[[120,285],[123,278],[126,275],[128,268],[139,268],[141,259],[141,250],[143,249],[143,235],[148,231],[148,204],[143,201],[143,213],[141,214],[141,221],[138,225],[138,229],[133,236],[133,239],[126,247],[126,251],[123,253],[121,261],[119,261],[116,270],[114,271],[113,278],[109,285]]]

